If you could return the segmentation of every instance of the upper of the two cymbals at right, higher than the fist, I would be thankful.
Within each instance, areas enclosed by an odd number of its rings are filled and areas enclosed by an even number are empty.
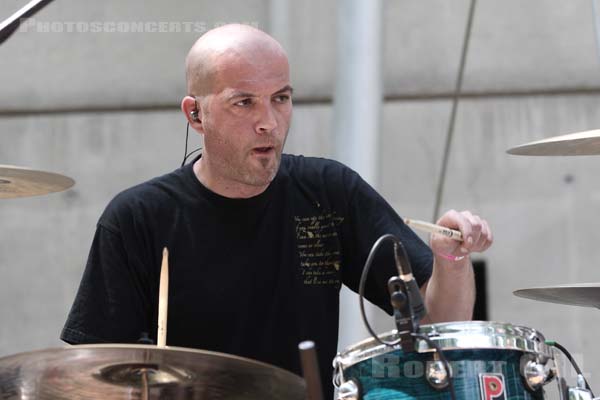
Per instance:
[[[507,150],[521,156],[594,156],[600,154],[600,129],[554,136]]]

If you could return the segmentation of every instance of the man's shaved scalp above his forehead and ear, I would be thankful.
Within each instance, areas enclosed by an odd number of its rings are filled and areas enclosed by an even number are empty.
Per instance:
[[[206,96],[215,91],[220,73],[231,65],[269,64],[287,55],[281,45],[265,32],[249,25],[230,24],[202,35],[185,60],[188,94]]]

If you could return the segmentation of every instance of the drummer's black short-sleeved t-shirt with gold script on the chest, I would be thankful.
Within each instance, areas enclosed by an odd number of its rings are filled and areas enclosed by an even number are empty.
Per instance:
[[[342,283],[358,291],[375,241],[403,242],[419,285],[429,248],[358,174],[325,159],[283,155],[265,192],[211,192],[192,164],[125,190],[97,225],[61,338],[72,344],[156,340],[162,249],[169,249],[167,343],[236,354],[301,374],[313,340],[327,399]],[[392,246],[371,267],[366,297],[391,312]],[[357,315],[359,311],[357,310]]]

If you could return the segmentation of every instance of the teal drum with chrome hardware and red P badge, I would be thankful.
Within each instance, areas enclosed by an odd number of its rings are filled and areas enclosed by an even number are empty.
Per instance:
[[[552,359],[541,333],[499,322],[450,322],[424,325],[448,361],[450,377],[434,346],[416,339],[416,352],[364,340],[334,360],[337,399],[543,399]],[[398,339],[396,331],[380,338]]]

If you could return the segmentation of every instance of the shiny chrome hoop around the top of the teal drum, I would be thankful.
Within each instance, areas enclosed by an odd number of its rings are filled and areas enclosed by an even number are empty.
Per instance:
[[[542,358],[552,358],[550,348],[544,342],[544,336],[532,328],[504,322],[464,321],[423,325],[420,333],[430,335],[442,351],[451,350],[516,350],[534,353]],[[386,332],[379,336],[386,341],[398,339],[397,331]],[[364,360],[393,351],[401,346],[384,346],[370,338],[356,343],[338,353],[334,364],[347,368]],[[419,353],[435,351],[424,340],[417,340]]]

